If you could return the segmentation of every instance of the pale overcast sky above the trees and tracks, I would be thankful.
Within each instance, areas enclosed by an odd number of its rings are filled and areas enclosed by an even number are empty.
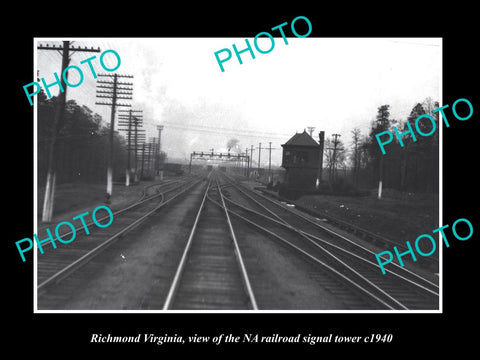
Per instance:
[[[268,54],[257,52],[249,39],[256,58],[245,52],[240,65],[233,54],[223,64],[225,72],[214,52],[229,48],[233,53],[232,44],[244,49],[245,38],[36,40],[50,45],[71,40],[73,46],[117,51],[121,65],[115,73],[134,76],[124,79],[134,84],[132,109],[143,110],[147,136],[157,136],[156,125],[164,125],[162,150],[170,159],[211,148],[226,151],[227,142],[236,138],[243,151],[272,142],[272,162],[279,164],[280,145],[308,126],[316,128],[316,140],[324,130],[326,137],[341,134],[348,146],[353,127],[368,133],[380,105],[389,104],[391,118],[404,121],[427,97],[441,103],[439,38],[288,38],[288,45],[275,38]],[[262,39],[259,45],[268,49],[270,40]],[[106,99],[96,99],[96,80],[87,64],[80,65],[93,55],[97,73],[106,73],[99,53],[75,52],[70,65],[84,70],[84,81],[67,89],[67,100],[88,106],[108,123],[110,107],[95,105]],[[113,66],[114,56],[106,55],[105,62]],[[37,65],[39,78],[53,82],[53,72],[61,70],[61,56],[38,50]],[[69,72],[69,81],[77,82],[75,71]],[[58,87],[51,91],[57,95]],[[262,156],[262,163],[267,160]]]

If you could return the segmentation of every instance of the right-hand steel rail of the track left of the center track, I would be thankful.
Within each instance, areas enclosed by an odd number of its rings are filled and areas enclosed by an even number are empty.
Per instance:
[[[192,188],[193,186],[198,184],[200,181],[201,180],[198,180],[196,182],[191,183],[189,186],[187,186],[185,189],[183,189],[179,193],[175,194],[170,199],[160,203],[154,209],[150,210],[149,212],[147,212],[146,214],[144,214],[143,216],[141,216],[140,218],[135,220],[133,223],[129,224],[127,227],[123,228],[122,230],[120,230],[119,232],[117,232],[116,234],[114,234],[113,236],[108,238],[107,240],[105,240],[102,244],[96,246],[95,248],[88,251],[86,254],[84,254],[83,256],[81,256],[80,258],[78,258],[77,260],[72,262],[71,264],[64,267],[62,270],[60,270],[57,273],[55,273],[54,275],[50,276],[48,279],[46,279],[45,281],[43,281],[41,284],[39,284],[37,286],[37,291],[41,291],[42,289],[46,288],[47,286],[52,285],[54,282],[60,281],[61,279],[65,278],[66,276],[71,274],[73,271],[79,269],[81,266],[83,266],[88,261],[93,259],[96,255],[98,255],[107,246],[111,245],[114,241],[116,241],[120,236],[122,236],[125,233],[127,233],[128,231],[132,230],[134,227],[136,227],[141,222],[143,222],[151,214],[153,214],[154,212],[156,212],[157,210],[159,210],[163,206],[169,204],[171,201],[176,199],[178,196],[184,194],[187,190],[189,190],[190,188]]]

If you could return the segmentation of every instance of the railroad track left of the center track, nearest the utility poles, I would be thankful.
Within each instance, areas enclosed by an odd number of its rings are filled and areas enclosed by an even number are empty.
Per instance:
[[[90,229],[89,235],[85,233],[84,227],[80,226],[75,229],[75,240],[69,244],[56,242],[57,248],[52,249],[50,242],[45,243],[43,245],[45,253],[37,253],[36,283],[39,299],[51,287],[58,285],[64,278],[87,264],[157,210],[186,193],[200,181],[202,179],[186,178],[161,184],[159,191],[155,191],[154,195],[142,196],[138,202],[115,211],[113,223],[108,228],[99,230],[91,226],[93,223],[86,223]],[[109,216],[97,221],[102,222],[106,218]],[[68,238],[71,233],[64,232],[59,235],[62,238]]]

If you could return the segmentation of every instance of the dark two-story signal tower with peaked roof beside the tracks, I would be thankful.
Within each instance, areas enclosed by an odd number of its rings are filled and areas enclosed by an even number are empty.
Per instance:
[[[323,132],[320,135],[323,136]],[[285,185],[289,188],[315,189],[319,166],[322,166],[323,144],[316,142],[305,130],[296,133],[283,147],[282,167],[286,169]]]

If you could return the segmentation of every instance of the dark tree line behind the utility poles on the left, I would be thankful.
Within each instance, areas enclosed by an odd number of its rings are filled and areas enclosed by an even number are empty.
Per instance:
[[[101,182],[106,179],[110,129],[102,124],[102,117],[75,100],[66,102],[62,123],[54,129],[56,97],[38,97],[37,171],[38,184],[45,185],[48,149],[56,131],[56,183],[76,181]],[[125,173],[127,150],[125,140],[114,133],[113,173]]]

